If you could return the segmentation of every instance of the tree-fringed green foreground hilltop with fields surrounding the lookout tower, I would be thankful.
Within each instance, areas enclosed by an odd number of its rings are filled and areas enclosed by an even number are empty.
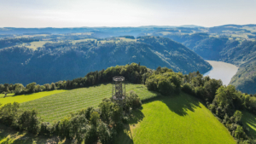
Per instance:
[[[124,109],[104,99],[111,96],[110,82],[116,75],[125,77],[126,93],[135,92],[127,94]],[[15,84],[15,91],[19,94],[22,89],[20,95],[29,94],[41,87],[35,83],[26,88]],[[45,95],[49,91],[21,95],[27,96],[28,101],[20,101],[20,109],[18,104],[3,106],[1,123],[36,135],[13,134],[0,125],[1,142],[38,143],[42,135],[47,135],[46,139],[66,137],[67,143],[70,137],[86,143],[106,141],[103,139],[106,137],[108,143],[235,143],[253,142],[255,135],[253,114],[243,112],[241,120],[240,111],[255,113],[255,97],[242,94],[235,86],[223,86],[220,80],[203,77],[200,72],[183,75],[166,67],[152,71],[132,63],[90,72],[84,78],[60,81],[56,85],[45,84],[45,88],[46,91],[69,90],[49,96]],[[25,122],[24,118],[27,118]]]

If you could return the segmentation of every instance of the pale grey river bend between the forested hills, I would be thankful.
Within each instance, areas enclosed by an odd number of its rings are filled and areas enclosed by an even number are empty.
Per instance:
[[[231,78],[236,74],[238,67],[222,61],[207,60],[212,65],[212,70],[204,76],[221,79],[224,85],[230,84]]]

